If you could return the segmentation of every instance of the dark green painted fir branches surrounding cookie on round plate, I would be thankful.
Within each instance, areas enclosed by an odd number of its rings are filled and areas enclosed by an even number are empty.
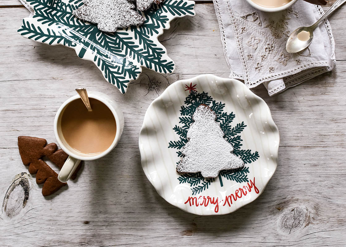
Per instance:
[[[252,152],[250,149],[240,149],[243,146],[243,139],[239,134],[245,129],[246,124],[241,122],[232,127],[231,123],[235,118],[235,114],[233,112],[224,112],[225,104],[222,102],[216,102],[216,100],[213,100],[207,92],[195,93],[193,91],[186,97],[184,103],[185,105],[180,107],[181,117],[179,117],[179,124],[182,124],[182,126],[175,125],[173,128],[174,132],[179,136],[179,140],[170,141],[168,144],[169,148],[179,150],[176,152],[178,157],[184,156],[181,149],[188,142],[186,134],[190,125],[193,123],[192,115],[200,104],[207,104],[213,111],[215,111],[217,115],[216,121],[220,123],[221,129],[225,133],[224,138],[232,144],[234,148],[233,153],[240,157],[245,164],[255,162],[260,157],[257,151]],[[221,187],[223,186],[222,177],[237,183],[248,182],[248,173],[249,167],[247,166],[236,170],[220,171],[218,181],[220,182]],[[190,184],[192,195],[207,190],[211,183],[216,181],[216,179],[204,178],[201,173],[185,173],[180,175],[177,179],[180,184]]]

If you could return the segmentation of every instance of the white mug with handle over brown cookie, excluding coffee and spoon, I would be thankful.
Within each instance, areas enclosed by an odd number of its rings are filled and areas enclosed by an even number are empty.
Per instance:
[[[117,144],[120,139],[120,136],[122,134],[122,130],[124,130],[124,115],[122,114],[121,109],[119,108],[118,104],[111,99],[108,95],[100,92],[88,92],[89,98],[97,99],[104,103],[113,113],[113,116],[115,118],[116,122],[116,134],[115,138],[112,142],[112,144],[104,150],[101,153],[97,154],[84,154],[81,152],[76,151],[74,148],[72,148],[69,144],[67,144],[62,131],[61,131],[61,116],[62,112],[65,109],[65,107],[73,100],[79,99],[79,95],[75,95],[71,97],[70,99],[66,100],[62,106],[59,108],[59,110],[56,112],[55,119],[54,119],[54,134],[55,138],[60,145],[60,147],[64,150],[65,153],[69,155],[69,157],[66,159],[65,164],[60,170],[60,173],[58,175],[58,180],[65,183],[67,180],[70,179],[73,172],[76,170],[79,163],[83,161],[91,161],[94,159],[99,159],[105,155],[107,155]]]

